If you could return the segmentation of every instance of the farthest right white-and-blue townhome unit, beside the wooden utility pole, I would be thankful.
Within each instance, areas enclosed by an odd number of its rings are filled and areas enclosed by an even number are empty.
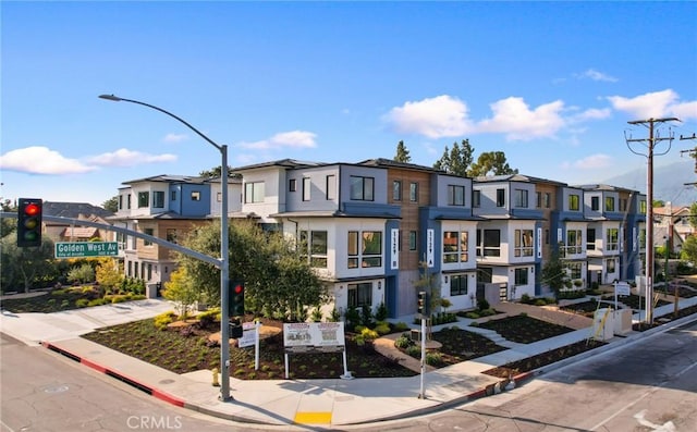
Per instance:
[[[609,185],[582,185],[588,282],[610,284],[641,274],[646,196]]]

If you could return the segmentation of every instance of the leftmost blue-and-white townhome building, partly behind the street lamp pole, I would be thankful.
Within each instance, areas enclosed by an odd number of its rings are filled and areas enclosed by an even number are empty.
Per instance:
[[[229,213],[240,209],[240,181],[230,178]],[[155,175],[123,182],[113,225],[176,243],[194,226],[220,218],[220,178]],[[218,209],[217,214],[211,209]],[[171,249],[133,236],[117,234],[123,249],[124,272],[148,284],[168,282],[176,268]]]

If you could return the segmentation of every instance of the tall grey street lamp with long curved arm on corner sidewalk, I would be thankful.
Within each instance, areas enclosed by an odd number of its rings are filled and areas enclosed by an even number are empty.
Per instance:
[[[204,138],[210,145],[216,147],[222,157],[222,165],[220,168],[220,188],[221,188],[221,205],[222,209],[220,210],[220,369],[221,369],[221,380],[220,380],[220,399],[229,400],[232,397],[230,396],[230,338],[229,338],[229,326],[228,326],[228,316],[229,316],[229,305],[228,305],[228,281],[230,280],[230,251],[228,249],[228,146],[227,145],[218,145],[213,143],[210,138],[199,132],[196,127],[188,124],[183,119],[172,114],[169,111],[166,111],[159,107],[140,102],[133,99],[120,98],[114,95],[99,95],[99,98],[111,100],[114,102],[131,102],[137,103],[144,107],[151,108],[154,110],[160,111],[179,122],[183,123],[186,127],[194,131],[196,135]]]

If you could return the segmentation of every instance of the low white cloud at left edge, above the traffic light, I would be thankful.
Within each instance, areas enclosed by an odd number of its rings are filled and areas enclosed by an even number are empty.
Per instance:
[[[8,151],[0,156],[0,168],[29,174],[81,174],[97,169],[42,146]]]

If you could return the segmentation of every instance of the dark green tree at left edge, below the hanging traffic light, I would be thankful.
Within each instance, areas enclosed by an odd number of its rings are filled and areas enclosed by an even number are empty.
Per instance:
[[[44,237],[41,246],[17,247],[16,233],[0,239],[0,274],[3,289],[22,284],[28,293],[41,277],[54,276],[53,242]]]

